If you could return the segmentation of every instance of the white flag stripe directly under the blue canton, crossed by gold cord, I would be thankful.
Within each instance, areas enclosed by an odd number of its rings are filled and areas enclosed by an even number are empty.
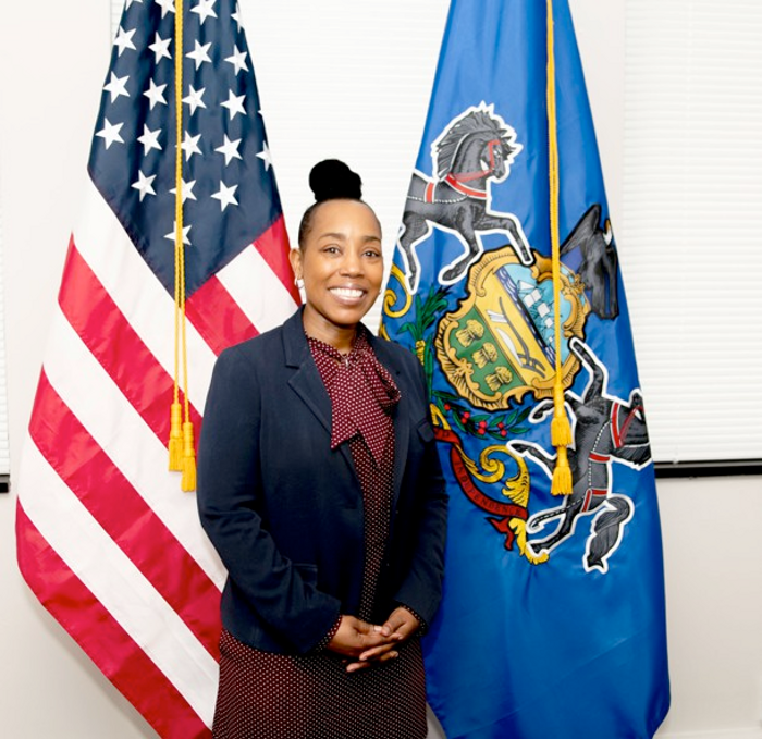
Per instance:
[[[148,268],[89,177],[74,242],[130,324],[173,377],[174,299]],[[186,335],[188,398],[202,412],[216,357],[189,321]]]

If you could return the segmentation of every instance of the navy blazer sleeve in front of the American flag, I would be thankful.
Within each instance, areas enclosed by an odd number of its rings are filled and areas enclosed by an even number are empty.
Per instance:
[[[256,369],[241,347],[223,352],[214,365],[199,439],[198,509],[236,596],[269,631],[306,653],[331,630],[341,604],[302,578],[257,513],[267,492],[259,461],[261,404],[267,399]]]

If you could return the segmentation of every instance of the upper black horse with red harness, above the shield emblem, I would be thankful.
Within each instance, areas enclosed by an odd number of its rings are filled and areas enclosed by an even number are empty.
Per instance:
[[[443,284],[457,282],[483,251],[478,232],[507,233],[521,262],[531,264],[533,258],[518,219],[489,209],[490,182],[505,180],[521,150],[516,132],[491,106],[482,103],[457,118],[431,148],[437,177],[430,181],[414,172],[400,231],[410,292],[418,288],[416,246],[429,236],[432,224],[454,233],[466,247],[463,256],[440,272]]]

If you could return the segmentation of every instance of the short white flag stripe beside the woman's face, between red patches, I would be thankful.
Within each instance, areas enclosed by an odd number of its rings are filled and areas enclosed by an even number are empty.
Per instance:
[[[294,298],[256,246],[244,249],[217,278],[259,333],[280,325],[296,310]]]

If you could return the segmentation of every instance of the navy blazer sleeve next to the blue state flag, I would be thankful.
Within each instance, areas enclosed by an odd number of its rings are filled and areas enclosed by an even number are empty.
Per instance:
[[[420,415],[414,433],[423,443],[423,454],[417,479],[410,481],[416,516],[410,566],[394,600],[413,611],[427,627],[433,620],[442,599],[448,496],[431,426],[423,370],[417,359],[414,361],[416,371],[413,375]]]

